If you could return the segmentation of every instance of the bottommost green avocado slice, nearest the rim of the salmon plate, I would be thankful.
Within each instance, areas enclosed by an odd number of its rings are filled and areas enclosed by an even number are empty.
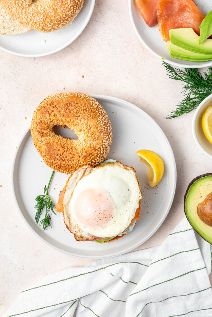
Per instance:
[[[187,49],[182,49],[181,47],[174,45],[171,41],[167,42],[166,45],[169,54],[174,58],[183,59],[186,61],[210,61],[212,60],[212,54],[200,54],[188,51]]]

